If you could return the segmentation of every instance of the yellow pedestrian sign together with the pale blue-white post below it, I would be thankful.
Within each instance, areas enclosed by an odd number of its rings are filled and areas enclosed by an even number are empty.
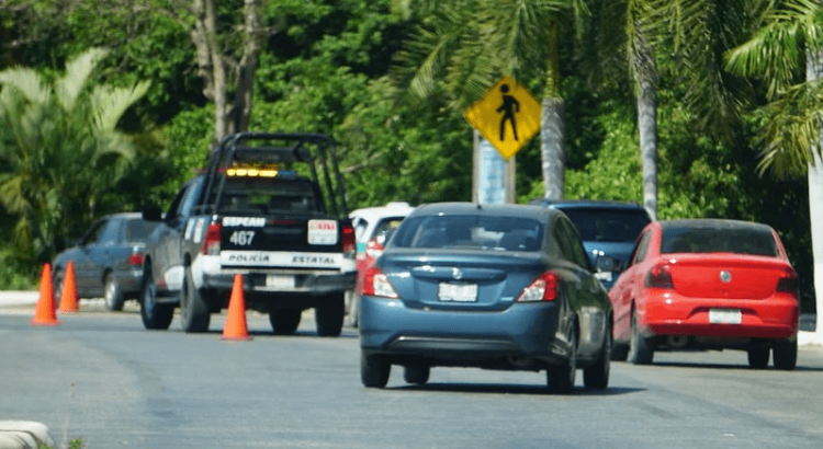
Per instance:
[[[540,103],[512,78],[503,77],[465,117],[476,130],[472,200],[515,203],[515,154],[540,131]]]

